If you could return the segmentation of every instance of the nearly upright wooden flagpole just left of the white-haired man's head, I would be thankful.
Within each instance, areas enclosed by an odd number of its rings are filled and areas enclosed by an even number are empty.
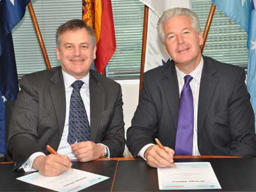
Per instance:
[[[144,21],[143,21],[142,47],[141,47],[141,63],[140,63],[140,92],[141,92],[141,88],[142,88],[143,72],[144,72],[144,68],[145,68],[147,33],[148,33],[148,6],[145,5]]]

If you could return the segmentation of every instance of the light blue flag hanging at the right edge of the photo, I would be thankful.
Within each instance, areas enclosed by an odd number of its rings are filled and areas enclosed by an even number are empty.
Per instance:
[[[256,0],[212,0],[222,12],[231,17],[248,34],[247,89],[256,116]],[[255,120],[256,124],[256,120]]]

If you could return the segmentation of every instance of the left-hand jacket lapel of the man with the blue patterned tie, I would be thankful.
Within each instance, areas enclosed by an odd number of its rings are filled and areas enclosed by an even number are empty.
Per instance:
[[[53,85],[49,87],[49,90],[58,119],[60,135],[62,135],[66,115],[66,94],[61,68],[52,76],[51,81]]]

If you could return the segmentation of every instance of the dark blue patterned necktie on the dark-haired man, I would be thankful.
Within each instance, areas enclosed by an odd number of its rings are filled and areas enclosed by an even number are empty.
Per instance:
[[[90,125],[84,108],[84,102],[80,95],[83,81],[77,80],[71,84],[73,91],[70,98],[70,109],[68,119],[68,143],[78,143],[91,140]]]

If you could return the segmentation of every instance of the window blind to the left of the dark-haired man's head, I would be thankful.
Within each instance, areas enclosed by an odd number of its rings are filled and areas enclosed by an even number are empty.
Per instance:
[[[51,66],[58,66],[60,63],[55,52],[56,29],[69,19],[81,19],[81,0],[44,0],[31,1],[31,3],[35,10]],[[13,29],[13,45],[19,77],[46,68],[28,8],[26,8],[22,21]]]

